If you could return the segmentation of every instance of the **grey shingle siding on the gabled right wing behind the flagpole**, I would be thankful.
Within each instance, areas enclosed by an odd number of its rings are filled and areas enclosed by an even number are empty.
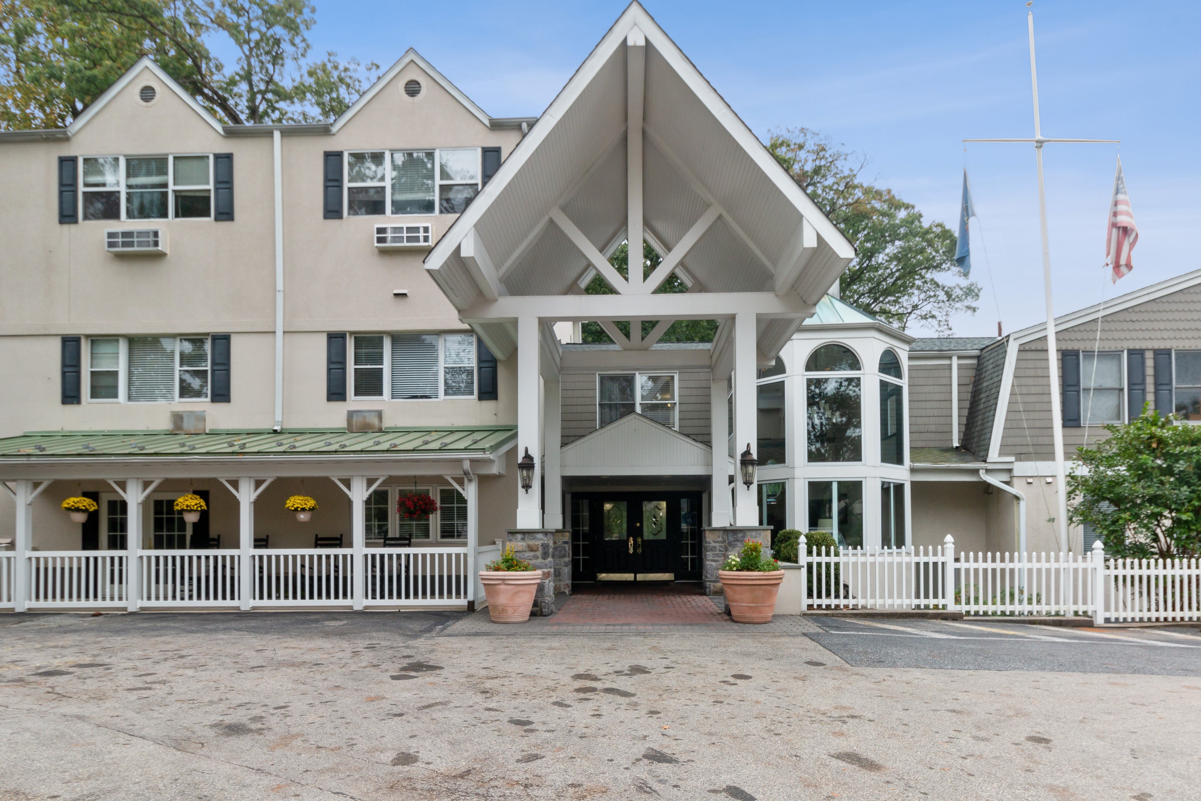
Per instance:
[[[1058,333],[1060,351],[1147,351],[1147,396],[1155,406],[1153,359],[1155,348],[1201,349],[1201,287],[1188,287],[1130,309],[1107,313],[1098,336],[1097,321],[1081,323]],[[1000,453],[1018,460],[1054,459],[1051,436],[1051,391],[1047,385],[1046,337],[1027,342],[1017,354],[1005,434]],[[1171,410],[1167,410],[1171,411]],[[1099,426],[1063,430],[1064,455],[1072,458],[1076,448],[1105,438]]]

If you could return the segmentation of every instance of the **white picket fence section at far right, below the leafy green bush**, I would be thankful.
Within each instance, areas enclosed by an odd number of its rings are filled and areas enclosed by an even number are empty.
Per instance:
[[[1110,622],[1201,620],[1201,563],[1111,560],[1101,594]]]

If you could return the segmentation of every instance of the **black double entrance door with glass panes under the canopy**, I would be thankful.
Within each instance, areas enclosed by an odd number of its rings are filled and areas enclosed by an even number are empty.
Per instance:
[[[587,533],[573,532],[573,539],[587,543],[591,569],[581,580],[699,578],[699,492],[597,492],[573,495],[573,504],[587,506]]]

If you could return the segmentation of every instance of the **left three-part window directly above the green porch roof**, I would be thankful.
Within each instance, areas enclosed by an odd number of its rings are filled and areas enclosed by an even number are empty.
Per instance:
[[[88,400],[209,400],[208,336],[102,336],[88,340]]]

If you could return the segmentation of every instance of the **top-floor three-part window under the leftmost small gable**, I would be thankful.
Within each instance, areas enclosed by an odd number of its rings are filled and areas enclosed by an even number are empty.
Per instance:
[[[84,220],[213,217],[213,156],[88,156]]]

